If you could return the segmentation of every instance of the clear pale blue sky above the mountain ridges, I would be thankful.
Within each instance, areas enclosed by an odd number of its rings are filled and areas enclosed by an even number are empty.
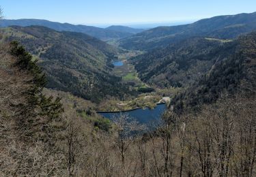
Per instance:
[[[179,24],[256,12],[256,0],[0,0],[5,19],[37,18],[71,24]]]

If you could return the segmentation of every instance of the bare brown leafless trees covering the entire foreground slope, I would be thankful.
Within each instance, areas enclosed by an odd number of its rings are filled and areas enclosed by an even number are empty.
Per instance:
[[[242,84],[245,93],[223,94],[201,112],[167,112],[157,131],[131,136],[141,127],[127,118],[100,131],[68,99],[61,113],[55,91],[56,99],[48,100],[36,87],[32,97],[35,76],[16,65],[20,58],[11,48],[0,48],[0,176],[256,176],[251,83]],[[89,106],[77,105],[83,104]]]

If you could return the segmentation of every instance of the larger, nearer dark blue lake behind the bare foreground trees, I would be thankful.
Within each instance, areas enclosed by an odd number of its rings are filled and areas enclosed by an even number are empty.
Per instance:
[[[146,108],[145,110],[139,108],[137,110],[131,110],[128,112],[99,112],[98,114],[104,116],[105,118],[113,119],[121,114],[128,114],[131,118],[134,118],[141,124],[156,125],[160,123],[160,117],[163,112],[165,112],[167,106],[165,104],[158,104],[156,108],[150,110]]]

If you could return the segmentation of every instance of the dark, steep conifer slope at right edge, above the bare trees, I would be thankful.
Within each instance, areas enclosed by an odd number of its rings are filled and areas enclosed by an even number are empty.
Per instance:
[[[207,74],[173,99],[176,109],[212,103],[222,92],[231,95],[238,91],[255,93],[256,33],[240,37],[233,42],[233,49],[234,52],[218,59]]]

